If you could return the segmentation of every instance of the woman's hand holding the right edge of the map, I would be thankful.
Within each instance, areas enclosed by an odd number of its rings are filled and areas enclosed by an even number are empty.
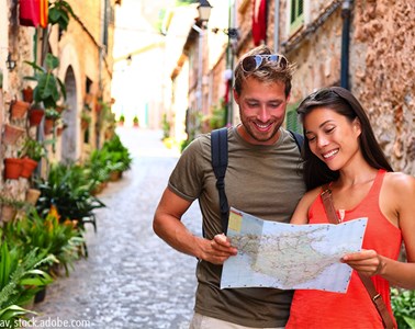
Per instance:
[[[341,259],[341,262],[368,276],[382,274],[384,268],[382,257],[374,250],[362,250],[360,252],[348,253]]]

